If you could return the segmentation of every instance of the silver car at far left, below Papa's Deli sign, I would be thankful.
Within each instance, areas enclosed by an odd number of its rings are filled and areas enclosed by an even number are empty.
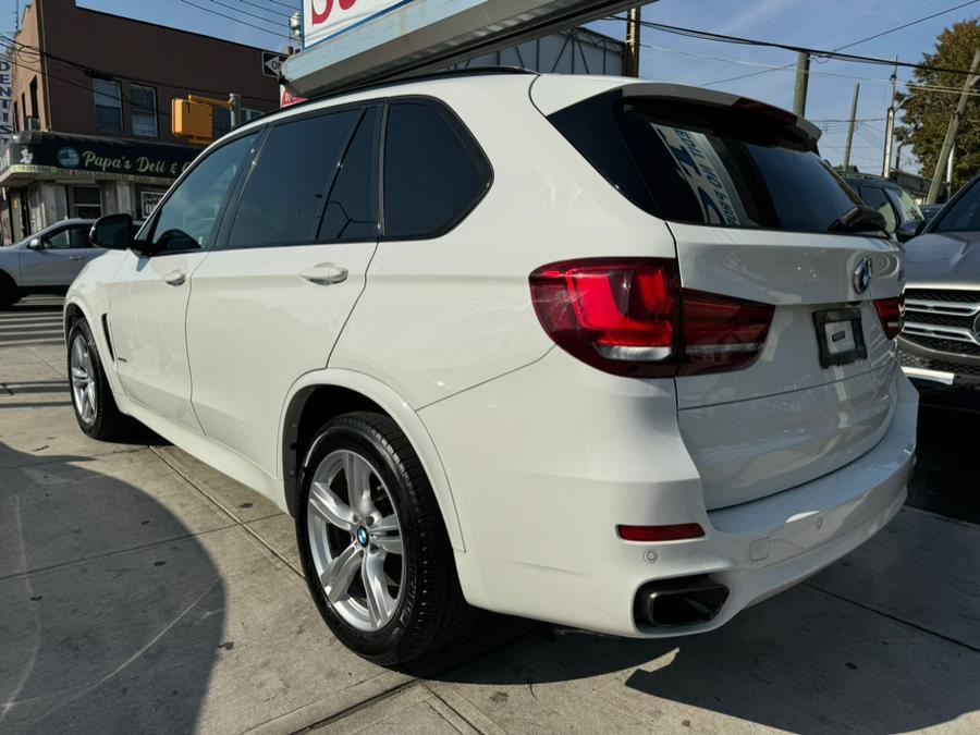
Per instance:
[[[105,250],[91,244],[94,220],[63,220],[0,247],[0,308],[32,293],[63,293],[93,258]]]

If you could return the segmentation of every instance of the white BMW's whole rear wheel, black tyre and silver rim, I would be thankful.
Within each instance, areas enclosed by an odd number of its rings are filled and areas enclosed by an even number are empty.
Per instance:
[[[388,416],[339,416],[301,474],[296,539],[310,593],[347,648],[382,665],[433,653],[473,618],[439,505]]]

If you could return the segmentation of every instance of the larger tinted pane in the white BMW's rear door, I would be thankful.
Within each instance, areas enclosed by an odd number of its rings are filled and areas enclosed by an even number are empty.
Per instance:
[[[345,110],[273,127],[245,183],[229,247],[313,243],[327,187],[360,115]]]

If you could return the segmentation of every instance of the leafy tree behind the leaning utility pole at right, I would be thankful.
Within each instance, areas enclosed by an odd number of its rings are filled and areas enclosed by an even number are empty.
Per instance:
[[[963,21],[939,35],[935,50],[922,54],[921,63],[927,66],[967,70],[977,49],[980,49],[980,19]],[[963,88],[964,81],[963,74],[917,69],[910,84],[958,91]],[[975,94],[980,94],[980,89]],[[910,98],[902,108],[905,117],[903,124],[895,127],[895,136],[911,144],[912,152],[922,164],[922,175],[931,177],[959,95],[910,86],[908,93],[898,93],[895,97],[899,102]],[[956,135],[953,191],[977,173],[980,173],[980,97],[970,97]]]

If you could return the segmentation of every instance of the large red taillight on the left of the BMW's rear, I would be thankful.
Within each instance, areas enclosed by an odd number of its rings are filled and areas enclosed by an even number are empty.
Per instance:
[[[538,320],[555,344],[615,375],[661,378],[747,366],[773,307],[683,291],[677,262],[590,258],[530,275]]]

